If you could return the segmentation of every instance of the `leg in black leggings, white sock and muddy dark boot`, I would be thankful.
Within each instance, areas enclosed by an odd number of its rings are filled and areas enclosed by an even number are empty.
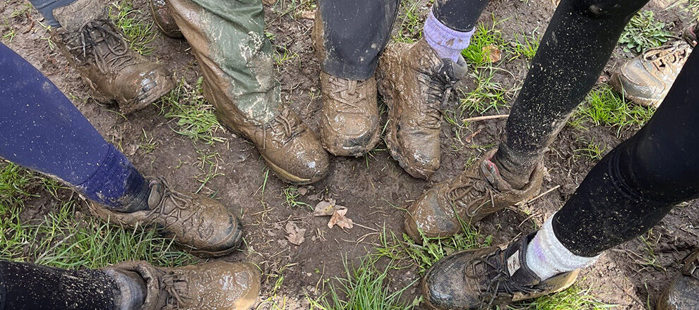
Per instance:
[[[645,233],[675,204],[699,197],[698,78],[699,55],[689,56],[651,120],[604,156],[537,233],[505,250],[470,250],[436,263],[425,280],[429,302],[472,309],[486,296],[507,303],[563,290],[599,254]],[[455,268],[470,276],[454,275]]]

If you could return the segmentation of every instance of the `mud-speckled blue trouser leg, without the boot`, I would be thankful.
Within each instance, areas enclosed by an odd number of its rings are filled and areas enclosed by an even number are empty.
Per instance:
[[[0,157],[119,211],[143,209],[148,182],[42,73],[0,44]]]

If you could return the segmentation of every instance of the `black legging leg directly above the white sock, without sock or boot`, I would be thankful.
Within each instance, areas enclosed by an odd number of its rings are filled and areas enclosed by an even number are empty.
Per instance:
[[[570,252],[595,256],[699,197],[698,79],[692,54],[650,121],[604,156],[556,213],[554,233]]]

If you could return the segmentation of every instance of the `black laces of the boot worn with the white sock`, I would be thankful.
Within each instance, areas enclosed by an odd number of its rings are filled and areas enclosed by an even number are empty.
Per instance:
[[[484,299],[489,299],[486,309],[490,309],[491,306],[493,306],[493,302],[497,299],[498,294],[504,293],[511,296],[515,294],[515,292],[522,292],[524,294],[542,292],[541,288],[533,285],[517,283],[508,272],[507,258],[502,253],[502,249],[496,249],[495,252],[485,257],[474,259],[474,262],[470,264],[470,268],[475,270],[477,266],[482,265],[485,271],[484,274],[476,272],[465,273],[469,278],[477,280],[487,279],[486,285],[484,285],[485,288],[482,290],[482,297]]]

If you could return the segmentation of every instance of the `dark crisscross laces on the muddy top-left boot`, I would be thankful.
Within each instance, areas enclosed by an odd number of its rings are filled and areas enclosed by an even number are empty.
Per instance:
[[[78,60],[94,63],[100,73],[119,71],[136,63],[119,31],[109,20],[92,20],[78,32],[62,35],[71,54]]]

